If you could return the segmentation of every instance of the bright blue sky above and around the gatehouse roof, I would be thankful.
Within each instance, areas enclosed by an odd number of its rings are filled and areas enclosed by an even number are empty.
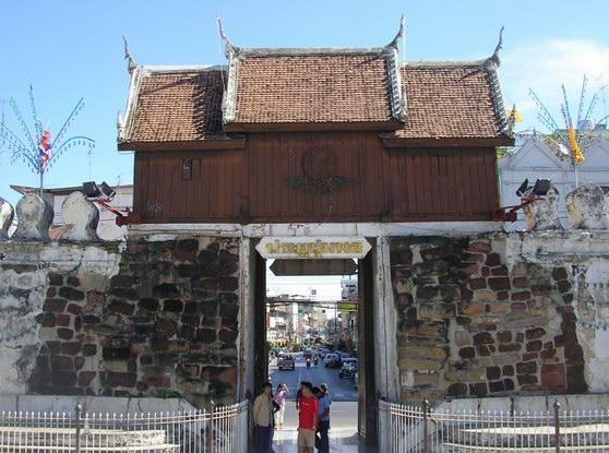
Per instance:
[[[71,131],[96,141],[91,158],[84,150],[68,151],[46,175],[46,187],[132,181],[133,156],[116,148],[117,114],[129,87],[123,34],[140,64],[222,64],[216,17],[244,47],[371,47],[393,38],[405,12],[403,57],[417,61],[485,58],[505,25],[504,98],[522,106],[523,128],[535,124],[528,87],[559,116],[561,83],[575,97],[584,73],[595,86],[609,82],[608,0],[24,0],[5,1],[1,11],[0,108],[7,123],[16,129],[11,97],[29,118],[32,83],[38,116],[55,133],[84,96],[85,109]],[[0,195],[14,203],[9,183],[35,186],[37,179],[10,160],[9,153],[0,155]]]

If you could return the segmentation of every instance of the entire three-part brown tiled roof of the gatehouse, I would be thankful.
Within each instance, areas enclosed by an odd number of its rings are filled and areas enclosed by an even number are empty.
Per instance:
[[[396,69],[387,48],[250,49],[232,56],[228,70],[138,67],[119,147],[216,146],[215,140],[235,142],[234,132],[286,124],[287,130],[372,124],[393,140],[507,136],[489,60]]]

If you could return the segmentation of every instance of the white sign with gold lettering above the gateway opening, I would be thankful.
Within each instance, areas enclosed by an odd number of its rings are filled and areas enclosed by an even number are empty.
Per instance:
[[[370,250],[365,238],[263,238],[256,250],[270,259],[363,258]]]

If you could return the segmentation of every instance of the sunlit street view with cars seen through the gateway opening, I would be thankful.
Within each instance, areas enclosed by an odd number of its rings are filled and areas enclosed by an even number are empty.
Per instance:
[[[353,263],[349,269],[356,272],[355,262],[348,260],[348,263]],[[290,267],[280,260],[270,260],[267,266],[267,375],[280,405],[275,415],[275,450],[294,448],[302,382],[310,382],[320,390],[321,397],[331,402],[329,443],[333,450],[338,442],[341,449],[356,448],[357,275],[288,276],[285,273],[298,273],[302,269]],[[318,433],[320,440],[322,436]]]

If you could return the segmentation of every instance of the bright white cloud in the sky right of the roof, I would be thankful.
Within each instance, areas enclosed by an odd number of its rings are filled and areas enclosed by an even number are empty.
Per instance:
[[[587,107],[593,94],[609,83],[609,47],[593,40],[550,39],[507,51],[502,58],[501,79],[506,107],[515,103],[524,116],[517,129],[544,129],[537,121],[538,109],[529,88],[562,126],[560,104],[564,84],[571,112],[576,117],[584,75],[588,78]],[[593,119],[609,115],[609,86],[604,92],[606,103],[600,99]]]

